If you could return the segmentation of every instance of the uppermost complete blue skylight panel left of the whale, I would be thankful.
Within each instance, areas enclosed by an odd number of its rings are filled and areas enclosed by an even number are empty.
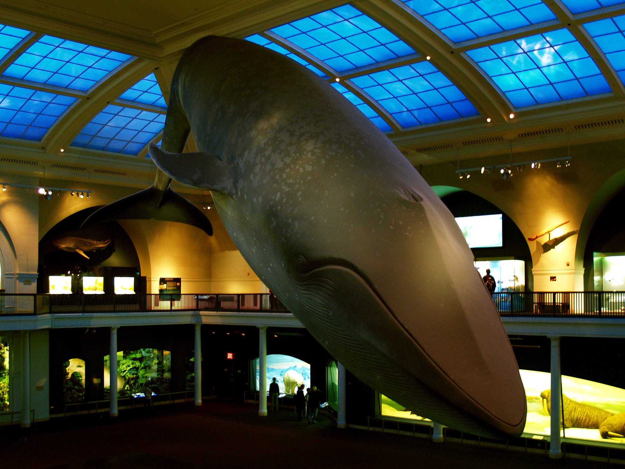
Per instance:
[[[11,78],[88,91],[131,56],[44,36],[2,74]]]

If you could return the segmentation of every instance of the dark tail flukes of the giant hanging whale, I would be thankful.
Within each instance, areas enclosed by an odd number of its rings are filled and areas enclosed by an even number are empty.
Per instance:
[[[212,235],[211,222],[199,208],[172,189],[162,191],[154,186],[94,211],[81,228],[104,221],[150,218],[191,224]]]

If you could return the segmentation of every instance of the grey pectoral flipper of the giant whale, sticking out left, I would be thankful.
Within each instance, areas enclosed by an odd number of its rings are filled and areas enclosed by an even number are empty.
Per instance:
[[[174,181],[234,196],[232,165],[226,161],[201,151],[169,153],[154,143],[150,144],[149,151],[156,166]]]

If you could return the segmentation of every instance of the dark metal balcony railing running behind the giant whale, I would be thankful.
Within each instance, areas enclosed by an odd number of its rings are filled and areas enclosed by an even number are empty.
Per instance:
[[[492,301],[501,316],[625,318],[625,291],[516,291],[493,293]],[[0,295],[1,315],[122,311],[289,312],[271,293]]]

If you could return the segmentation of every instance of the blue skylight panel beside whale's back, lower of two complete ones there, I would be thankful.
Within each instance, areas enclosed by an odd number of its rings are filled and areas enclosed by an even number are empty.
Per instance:
[[[476,116],[477,109],[429,62],[351,79],[403,127]]]

